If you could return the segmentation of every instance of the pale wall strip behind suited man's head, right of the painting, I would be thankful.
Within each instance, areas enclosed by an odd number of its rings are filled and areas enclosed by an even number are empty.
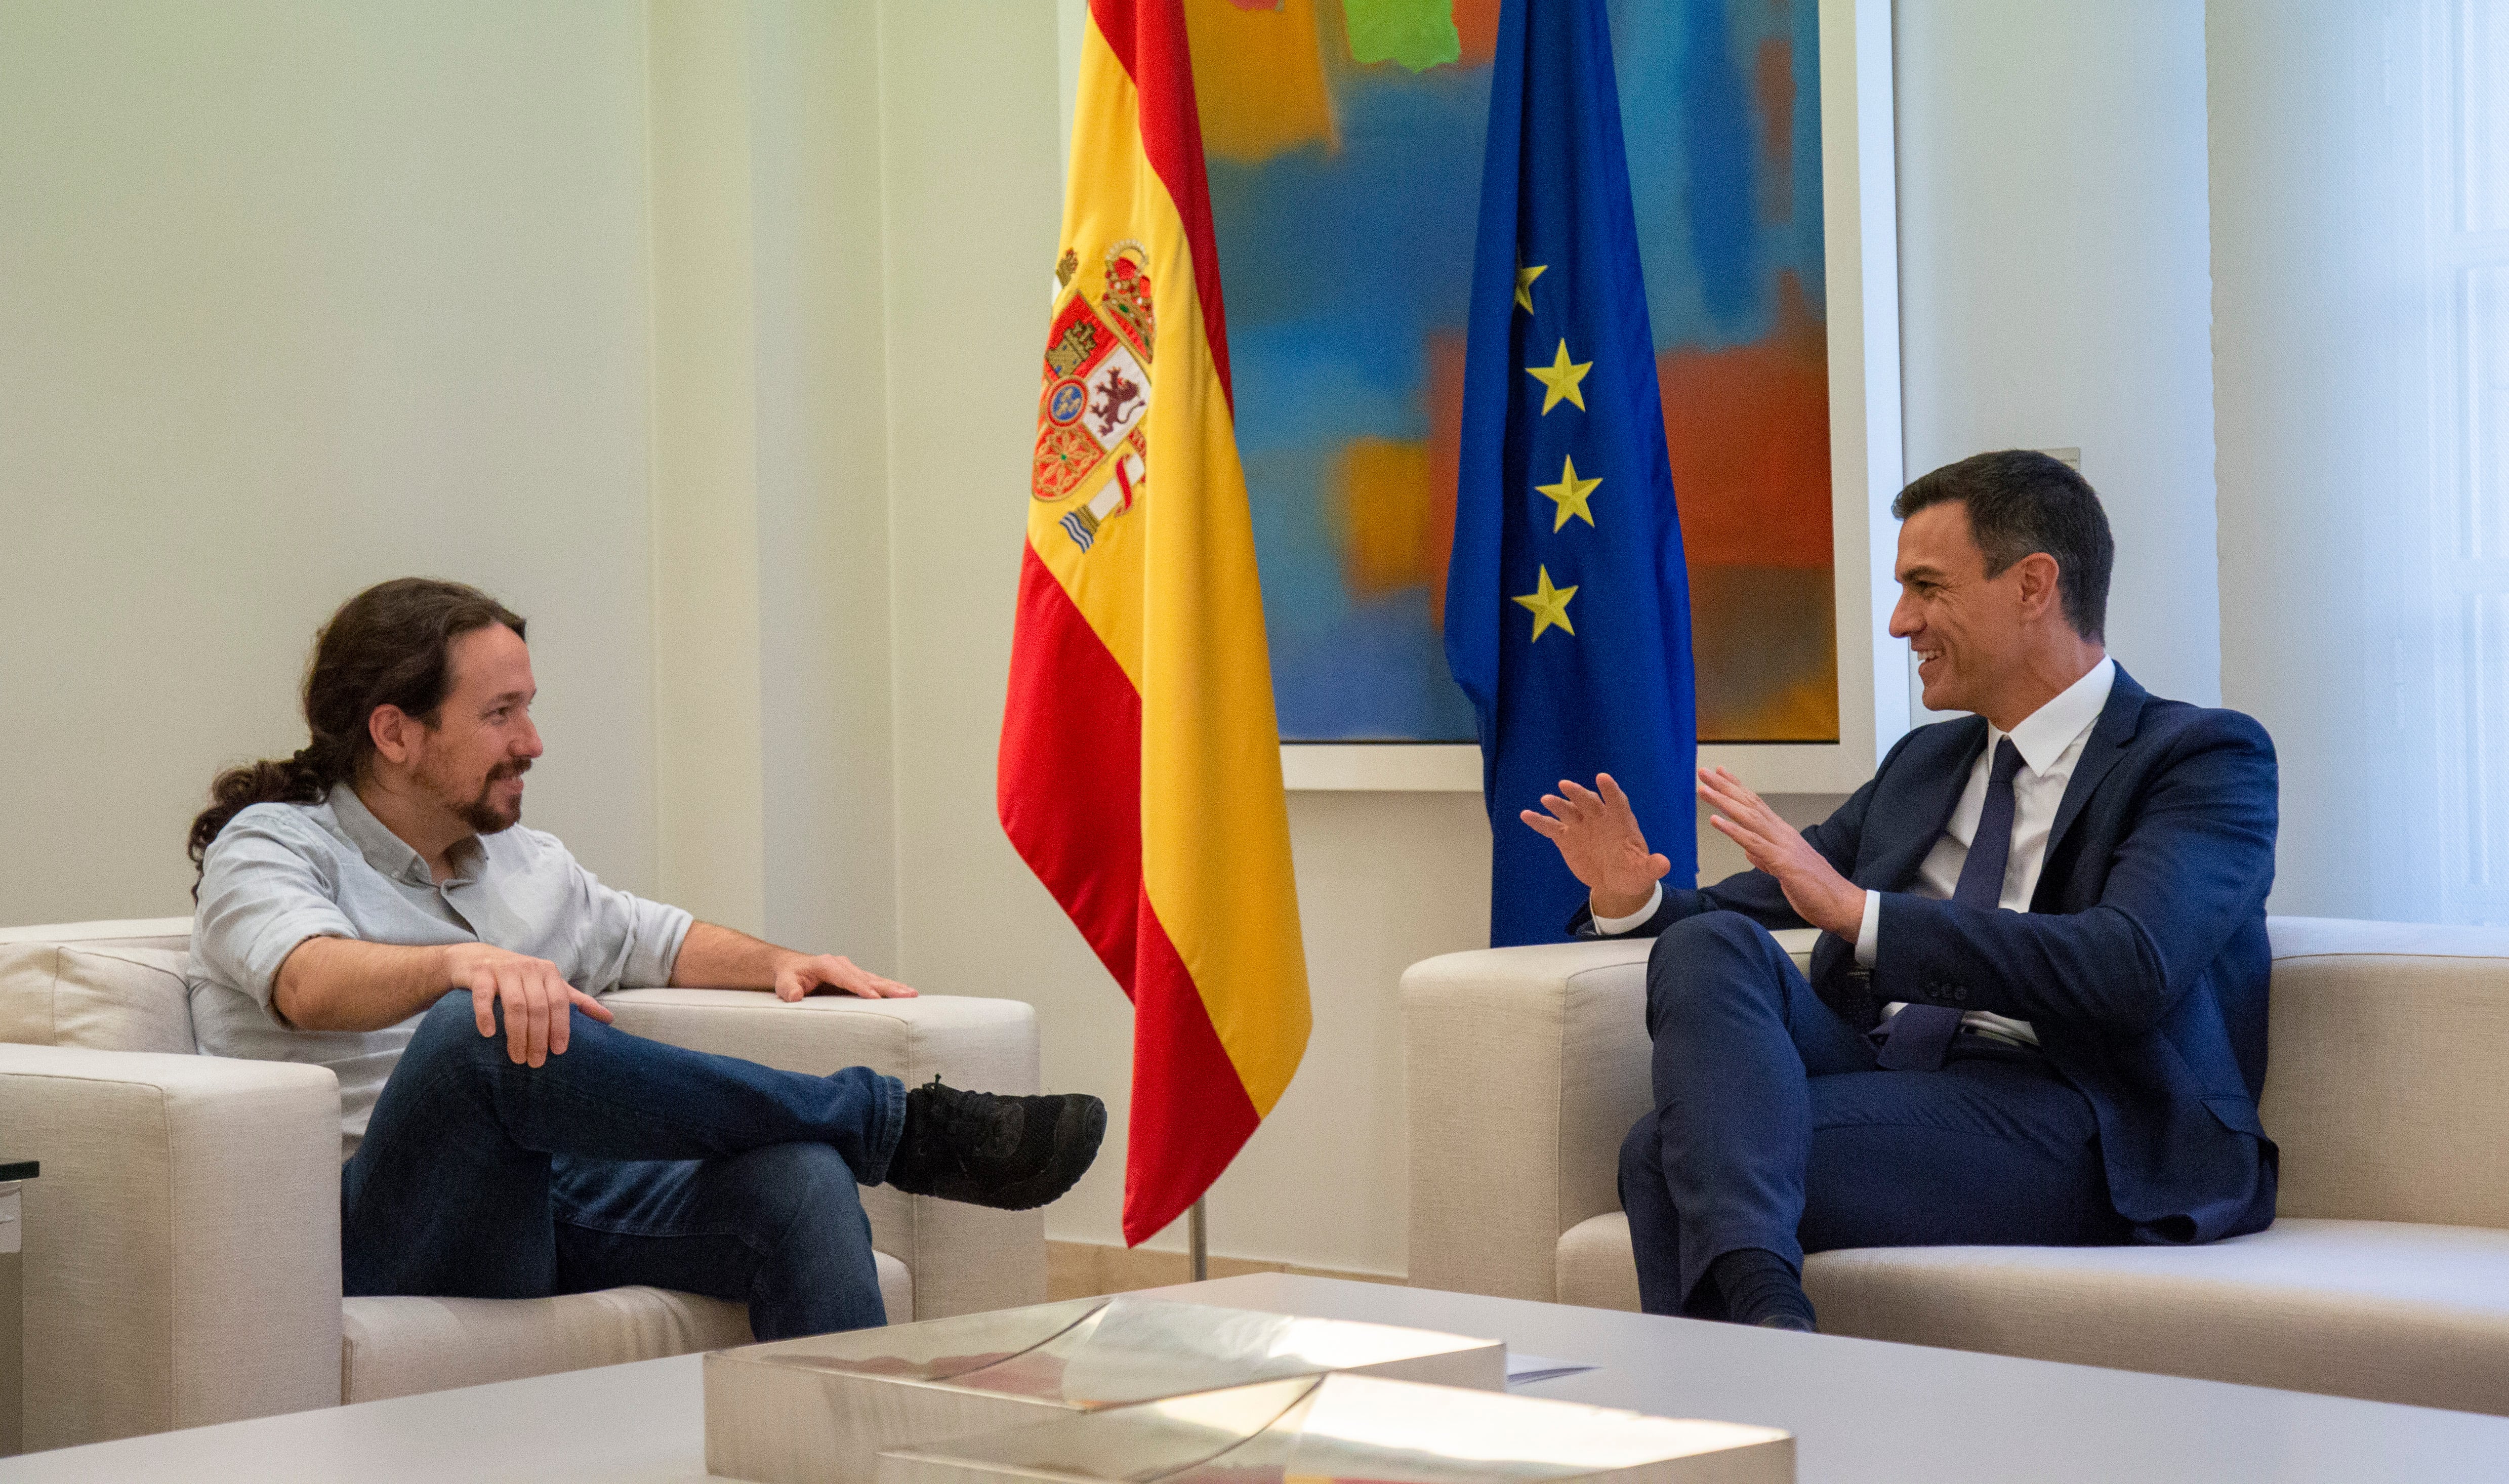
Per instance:
[[[1909,475],[2080,447],[2110,653],[2218,703],[2200,0],[1899,0],[1897,85]]]

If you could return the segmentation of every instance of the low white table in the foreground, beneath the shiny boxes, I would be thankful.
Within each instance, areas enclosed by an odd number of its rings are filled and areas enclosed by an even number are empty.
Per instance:
[[[2509,1479],[2509,1419],[2464,1411],[1280,1273],[1162,1293],[1586,1361],[1523,1394],[1781,1426],[1804,1484]],[[677,1356],[33,1454],[0,1484],[692,1484],[700,1401],[700,1358]]]

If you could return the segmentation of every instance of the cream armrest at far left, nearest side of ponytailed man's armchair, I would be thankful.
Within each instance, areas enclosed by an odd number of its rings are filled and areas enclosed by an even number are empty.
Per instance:
[[[25,1446],[339,1404],[326,1067],[0,1045],[25,1185]]]

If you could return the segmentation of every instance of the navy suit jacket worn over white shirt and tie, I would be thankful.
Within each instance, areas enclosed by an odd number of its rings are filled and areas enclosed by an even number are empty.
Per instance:
[[[1839,874],[1882,891],[1872,972],[1824,932],[1814,992],[1859,1027],[1894,999],[2027,1019],[2098,1112],[2110,1203],[2138,1238],[2263,1230],[2278,1160],[2256,1117],[2273,967],[2273,738],[2238,711],[2160,701],[2120,668],[2057,804],[2027,914],[1909,894],[1985,746],[1977,716],[1922,726],[1804,831]],[[1744,871],[1666,891],[1638,932],[1699,911],[1806,927],[1774,876]],[[1573,927],[1588,924],[1578,914]]]

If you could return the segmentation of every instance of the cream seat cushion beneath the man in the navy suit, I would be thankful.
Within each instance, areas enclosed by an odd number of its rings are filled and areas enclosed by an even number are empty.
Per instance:
[[[1628,1218],[1561,1238],[1563,1303],[1636,1308]],[[2509,1416],[2509,1230],[2286,1218],[2205,1248],[1817,1253],[1824,1333]]]

